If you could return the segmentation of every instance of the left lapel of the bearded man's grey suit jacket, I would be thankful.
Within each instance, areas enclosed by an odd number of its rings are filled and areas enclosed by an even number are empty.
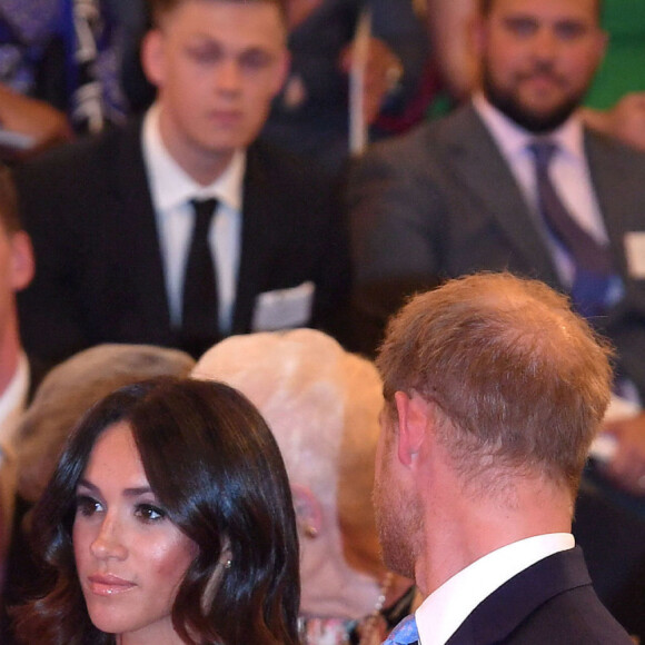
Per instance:
[[[448,162],[460,178],[464,190],[476,197],[486,212],[497,220],[515,252],[535,275],[559,285],[542,231],[509,171],[506,160],[473,106],[455,115],[446,135]]]

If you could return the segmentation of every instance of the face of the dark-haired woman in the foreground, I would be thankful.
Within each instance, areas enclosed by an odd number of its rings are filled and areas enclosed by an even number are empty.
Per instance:
[[[179,643],[170,618],[197,545],[150,489],[130,426],[97,439],[77,487],[73,549],[89,616],[120,643]]]

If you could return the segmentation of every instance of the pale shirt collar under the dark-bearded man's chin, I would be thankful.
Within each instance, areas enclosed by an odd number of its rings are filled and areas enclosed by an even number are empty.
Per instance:
[[[497,141],[505,157],[513,159],[526,151],[529,143],[537,138],[533,132],[519,127],[515,121],[494,107],[483,92],[473,98],[473,106],[490,133]],[[584,162],[585,142],[584,128],[579,116],[574,112],[559,128],[546,137],[557,143],[558,151],[574,161]]]

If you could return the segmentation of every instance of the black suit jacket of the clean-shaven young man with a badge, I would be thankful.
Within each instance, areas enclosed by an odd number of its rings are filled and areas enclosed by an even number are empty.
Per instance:
[[[60,360],[98,343],[176,345],[141,153],[140,121],[18,167],[37,275],[19,297],[22,340]],[[341,209],[310,166],[261,143],[248,150],[232,333],[250,330],[256,297],[316,285],[311,324],[350,285]]]

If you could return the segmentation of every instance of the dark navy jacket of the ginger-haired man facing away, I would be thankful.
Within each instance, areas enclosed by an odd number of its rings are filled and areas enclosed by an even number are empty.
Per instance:
[[[446,645],[629,645],[598,601],[579,547],[554,554],[483,601]]]

